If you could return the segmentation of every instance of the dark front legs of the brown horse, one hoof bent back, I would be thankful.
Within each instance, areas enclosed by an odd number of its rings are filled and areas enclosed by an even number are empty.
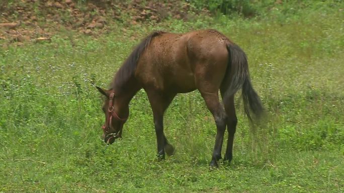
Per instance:
[[[167,139],[163,133],[163,114],[176,94],[166,94],[155,90],[147,90],[146,92],[153,111],[157,141],[157,154],[160,159],[163,159],[165,156],[165,151],[169,156],[173,155],[174,152],[173,146],[167,142]]]

